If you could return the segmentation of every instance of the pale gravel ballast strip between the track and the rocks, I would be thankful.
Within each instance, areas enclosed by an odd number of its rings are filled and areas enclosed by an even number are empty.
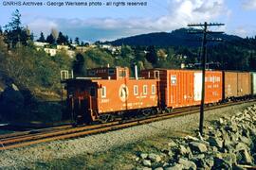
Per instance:
[[[218,110],[205,112],[206,123],[230,115],[254,103],[244,103]],[[68,159],[81,154],[106,151],[124,144],[152,138],[159,134],[174,136],[192,134],[198,128],[199,113],[175,117],[137,127],[110,131],[106,133],[85,136],[79,139],[54,141],[46,144],[36,144],[23,148],[0,151],[0,169],[26,168],[27,163],[46,162],[55,159]],[[1,140],[0,140],[1,144]]]

